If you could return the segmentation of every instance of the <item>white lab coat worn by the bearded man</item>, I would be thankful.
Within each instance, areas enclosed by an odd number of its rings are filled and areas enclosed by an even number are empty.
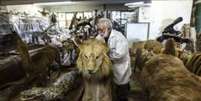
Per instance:
[[[107,44],[110,48],[109,57],[113,64],[114,82],[117,85],[127,84],[132,73],[128,41],[122,33],[112,30]]]

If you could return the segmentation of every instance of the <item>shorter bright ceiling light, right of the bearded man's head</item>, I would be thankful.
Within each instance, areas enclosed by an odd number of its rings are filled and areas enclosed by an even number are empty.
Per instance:
[[[133,3],[126,3],[125,6],[128,6],[130,8],[135,8],[135,7],[149,7],[149,3],[144,3],[144,2],[133,2]]]

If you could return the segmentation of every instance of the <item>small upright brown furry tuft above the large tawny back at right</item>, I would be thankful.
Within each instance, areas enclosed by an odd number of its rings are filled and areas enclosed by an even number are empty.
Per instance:
[[[165,49],[163,51],[164,54],[178,56],[176,42],[174,39],[168,39],[165,43]]]

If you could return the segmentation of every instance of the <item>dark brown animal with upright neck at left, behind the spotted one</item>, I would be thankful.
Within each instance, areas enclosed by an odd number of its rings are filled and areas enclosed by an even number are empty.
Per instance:
[[[27,80],[37,78],[40,83],[47,80],[49,75],[49,66],[54,62],[60,62],[60,55],[57,48],[47,45],[37,51],[33,56],[29,55],[28,46],[19,36],[16,37],[16,50],[22,59],[23,69],[25,70]],[[44,81],[44,82],[45,82]]]

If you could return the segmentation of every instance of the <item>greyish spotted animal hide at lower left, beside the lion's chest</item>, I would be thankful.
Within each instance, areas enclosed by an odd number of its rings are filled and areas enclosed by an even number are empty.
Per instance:
[[[64,73],[48,87],[33,87],[21,92],[18,101],[63,101],[64,94],[72,89],[77,78],[75,71]]]

